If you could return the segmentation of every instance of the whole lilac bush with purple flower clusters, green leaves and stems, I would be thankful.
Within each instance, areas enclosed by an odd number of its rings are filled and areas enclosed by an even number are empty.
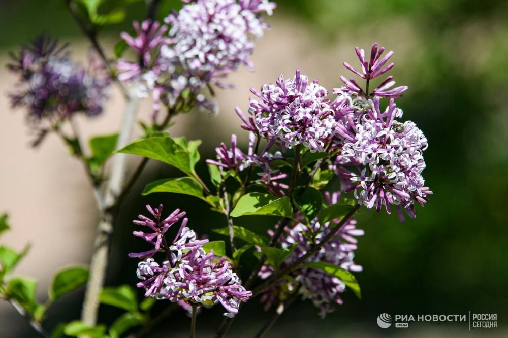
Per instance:
[[[144,333],[160,320],[150,313],[156,300],[169,300],[190,314],[191,337],[198,310],[220,303],[226,318],[216,337],[222,337],[241,316],[241,307],[257,296],[266,311],[276,309],[256,336],[266,333],[300,296],[310,299],[323,318],[343,304],[348,290],[360,297],[355,274],[362,266],[355,251],[364,231],[357,228],[355,213],[362,207],[378,212],[384,208],[388,214],[395,209],[404,222],[403,212],[416,217],[416,205],[426,204],[432,194],[423,178],[428,141],[414,122],[402,120],[396,104],[408,87],[395,87],[388,74],[394,66],[389,63],[393,52],[373,44],[366,55],[357,47],[360,67],[345,62],[344,66],[361,80],[340,76],[344,85],[332,90],[316,79],[310,81],[300,69],[290,78],[280,75],[259,91],[252,88],[246,113],[235,109],[245,132],[233,134],[230,144],[217,142],[214,158],[205,160],[209,177],[204,178],[196,170],[201,141],[172,138],[166,129],[177,114],[217,111],[209,96],[214,88],[231,87],[227,77],[240,66],[253,69],[254,40],[268,28],[263,16],[272,15],[275,4],[187,0],[178,11],[164,13],[162,23],[154,20],[158,1],[153,1],[151,14],[133,22],[133,32],[120,33],[112,61],[97,32],[116,17],[114,12],[98,14],[92,3],[83,16],[81,3],[67,2],[94,47],[86,69],[71,60],[66,45],[45,37],[13,54],[9,65],[18,76],[11,102],[26,108],[30,122],[40,129],[36,143],[49,131],[57,133],[82,162],[92,184],[101,219],[90,268],[59,272],[49,301],[40,304],[34,294],[26,294],[35,290],[30,282],[4,280],[24,252],[3,248],[15,259],[12,266],[2,261],[2,297],[39,333],[49,336],[42,325],[47,308],[86,283],[81,321],[67,323],[63,332],[101,337],[117,337],[135,326],[142,326]],[[126,50],[129,54],[124,54]],[[386,78],[378,79],[381,76]],[[100,114],[110,84],[126,100],[122,127],[119,133],[90,139],[85,149],[72,117]],[[140,121],[143,135],[132,140],[142,97],[151,97],[153,115],[150,121]],[[63,128],[65,123],[71,134]],[[240,146],[242,140],[248,140],[247,149]],[[125,154],[143,157],[130,177]],[[106,165],[110,158],[111,165]],[[152,182],[143,194],[178,193],[206,202],[226,220],[225,227],[212,231],[227,239],[200,238],[187,226],[185,212],[175,209],[163,216],[162,205],[147,205],[149,216],[138,216],[133,223],[140,228],[133,235],[149,247],[129,254],[140,260],[132,273],[146,299],[138,303],[132,286],[105,287],[104,280],[113,222],[149,159],[184,175]],[[277,219],[268,238],[256,229],[235,225],[238,217],[256,215]],[[0,232],[9,228],[6,220],[7,216],[0,218]],[[240,278],[247,254],[257,263]],[[126,313],[106,328],[97,323],[100,303]]]

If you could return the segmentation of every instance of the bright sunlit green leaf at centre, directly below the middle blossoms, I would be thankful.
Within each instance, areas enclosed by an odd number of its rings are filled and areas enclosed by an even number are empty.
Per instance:
[[[277,198],[269,194],[252,192],[238,200],[231,217],[268,215],[295,218],[288,197]]]

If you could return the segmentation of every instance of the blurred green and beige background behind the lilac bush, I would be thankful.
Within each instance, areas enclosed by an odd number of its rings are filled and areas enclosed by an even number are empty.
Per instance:
[[[405,119],[425,132],[426,183],[434,191],[418,218],[401,224],[396,215],[364,211],[357,217],[365,230],[355,262],[363,299],[344,294],[344,305],[322,320],[309,301],[295,302],[283,314],[268,337],[339,336],[508,336],[508,2],[475,0],[278,0],[267,21],[272,29],[257,42],[252,57],[256,72],[245,69],[232,74],[233,90],[217,90],[220,113],[209,116],[192,112],[176,118],[173,136],[200,138],[203,158],[214,157],[213,148],[237,133],[246,146],[247,135],[239,128],[234,107],[246,109],[249,87],[274,82],[280,73],[317,78],[327,88],[341,86],[347,75],[342,61],[356,65],[355,46],[368,49],[373,42],[395,51],[393,75],[409,91],[398,100]],[[159,16],[177,1],[163,1]],[[143,19],[146,5],[127,8],[121,24],[101,32],[100,40],[113,55],[118,33],[131,31],[130,22]],[[17,50],[41,32],[71,43],[73,56],[85,60],[88,42],[66,11],[63,1],[0,1],[0,64],[7,52]],[[17,269],[39,281],[40,301],[62,265],[86,264],[98,216],[81,165],[68,156],[56,137],[37,149],[25,125],[23,111],[12,111],[7,93],[14,76],[0,69],[0,212],[10,214],[13,230],[1,242],[31,251]],[[115,132],[123,101],[112,91],[105,113],[93,120],[80,120],[85,136]],[[150,103],[141,106],[140,119],[147,119]],[[137,131],[139,134],[139,130]],[[138,158],[132,158],[132,168]],[[202,163],[203,164],[203,163]],[[198,168],[204,173],[205,166]],[[223,227],[225,219],[201,201],[182,195],[141,197],[148,182],[178,175],[166,165],[152,162],[122,207],[111,248],[107,285],[136,282],[137,262],[127,253],[142,248],[131,220],[146,203],[164,202],[166,210],[187,211],[189,225],[198,233]],[[265,233],[270,218],[240,219],[239,223]],[[248,255],[245,255],[247,258]],[[253,260],[247,258],[244,268]],[[77,319],[83,290],[62,297],[48,313],[45,326],[59,320]],[[140,293],[141,297],[141,293]],[[154,312],[163,311],[160,302]],[[407,329],[380,329],[376,317],[390,314],[497,313],[497,328],[467,331],[466,324],[410,323]],[[198,318],[197,336],[211,336],[222,310],[206,310]],[[111,323],[119,311],[101,308],[101,322]],[[229,336],[248,337],[268,318],[257,300],[242,310]],[[188,319],[177,311],[165,320],[153,337],[188,334]],[[0,303],[0,336],[36,336],[6,303]]]

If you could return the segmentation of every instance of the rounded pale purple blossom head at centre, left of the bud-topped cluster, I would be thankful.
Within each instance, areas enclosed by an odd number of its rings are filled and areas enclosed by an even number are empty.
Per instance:
[[[259,100],[251,99],[249,118],[237,108],[242,118],[242,128],[274,140],[283,148],[297,145],[308,147],[311,152],[323,151],[325,143],[333,135],[336,121],[328,90],[317,80],[309,83],[300,70],[292,79],[281,75],[276,84],[266,84],[261,93],[251,88]]]

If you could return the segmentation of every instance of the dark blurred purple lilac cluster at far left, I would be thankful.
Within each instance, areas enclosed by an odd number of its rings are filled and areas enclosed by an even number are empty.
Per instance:
[[[11,103],[26,107],[30,120],[54,124],[77,112],[95,116],[103,111],[110,79],[93,56],[85,70],[71,60],[67,45],[41,36],[11,57],[8,67],[19,76]]]

